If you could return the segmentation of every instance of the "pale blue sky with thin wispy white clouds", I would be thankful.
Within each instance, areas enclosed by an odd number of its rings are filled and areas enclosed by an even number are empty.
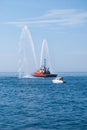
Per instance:
[[[18,71],[24,26],[37,59],[46,39],[54,71],[87,72],[87,0],[0,0],[0,72]]]

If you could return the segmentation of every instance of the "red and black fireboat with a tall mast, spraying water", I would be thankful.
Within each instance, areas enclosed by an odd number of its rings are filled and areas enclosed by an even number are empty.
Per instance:
[[[57,74],[52,74],[49,68],[46,67],[46,59],[44,59],[44,65],[40,67],[40,70],[33,74],[34,77],[56,77]]]

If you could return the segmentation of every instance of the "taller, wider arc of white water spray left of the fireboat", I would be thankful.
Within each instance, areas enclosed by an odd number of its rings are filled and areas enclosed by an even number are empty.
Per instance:
[[[37,58],[33,39],[27,26],[24,26],[19,42],[19,77],[31,77],[37,69]]]

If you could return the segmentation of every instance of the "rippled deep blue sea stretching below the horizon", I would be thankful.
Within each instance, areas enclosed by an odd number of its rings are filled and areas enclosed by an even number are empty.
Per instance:
[[[0,130],[87,130],[87,73],[19,79],[0,73]]]

